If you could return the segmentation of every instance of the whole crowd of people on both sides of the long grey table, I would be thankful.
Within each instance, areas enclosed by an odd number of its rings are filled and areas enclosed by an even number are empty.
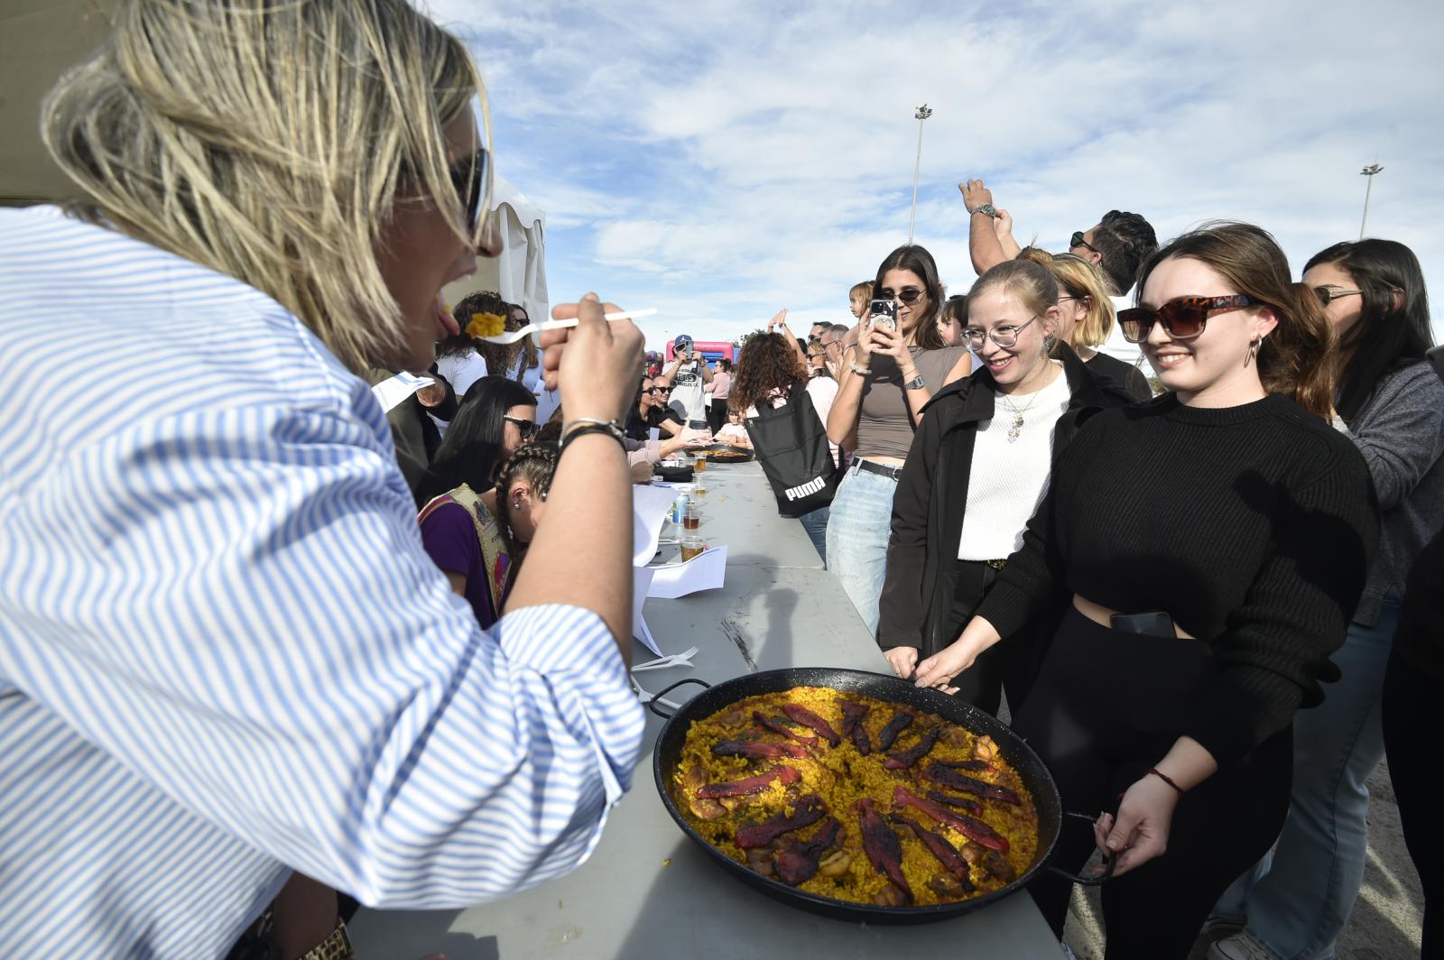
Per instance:
[[[575,868],[641,751],[631,485],[710,443],[816,472],[778,502],[806,488],[879,666],[1006,712],[1100,811],[1060,858],[1108,860],[1109,957],[1331,957],[1385,755],[1438,907],[1444,367],[1408,247],[1295,280],[1261,227],[1113,209],[1051,253],[966,180],[966,293],[908,244],[852,322],[783,310],[735,362],[644,367],[596,294],[497,345],[458,318],[524,306],[439,299],[500,250],[465,46],[403,0],[173,6],[46,101],[82,199],[0,214],[6,383],[45,397],[0,426],[0,953],[347,956],[357,902]],[[66,375],[53,316],[97,303]],[[396,371],[433,383],[383,414]],[[1030,892],[1061,937],[1070,883]]]

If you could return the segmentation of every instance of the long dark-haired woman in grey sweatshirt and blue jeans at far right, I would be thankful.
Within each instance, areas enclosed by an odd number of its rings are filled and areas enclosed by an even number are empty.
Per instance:
[[[1380,703],[1404,583],[1444,527],[1444,384],[1424,362],[1434,338],[1418,258],[1392,240],[1334,244],[1308,261],[1304,284],[1318,294],[1339,336],[1334,424],[1369,465],[1380,510],[1379,556],[1333,655],[1343,678],[1321,707],[1294,720],[1292,798],[1274,855],[1214,909],[1220,920],[1248,921],[1212,947],[1223,960],[1251,960],[1259,951],[1333,956],[1363,883],[1365,782],[1383,758]],[[1393,676],[1406,680],[1406,673]],[[1399,813],[1419,801],[1405,788]]]

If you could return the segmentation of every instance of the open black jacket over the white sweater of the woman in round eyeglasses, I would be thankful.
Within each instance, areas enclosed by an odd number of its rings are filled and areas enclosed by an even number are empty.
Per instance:
[[[1096,374],[1066,344],[1063,361],[1073,398],[1053,430],[1053,462],[1089,416],[1123,407],[1134,397],[1113,378]],[[957,583],[957,541],[967,505],[978,424],[993,416],[996,387],[986,367],[943,387],[923,407],[923,420],[892,498],[888,569],[878,611],[878,645],[917,647],[931,657],[957,640],[963,624],[950,622]]]

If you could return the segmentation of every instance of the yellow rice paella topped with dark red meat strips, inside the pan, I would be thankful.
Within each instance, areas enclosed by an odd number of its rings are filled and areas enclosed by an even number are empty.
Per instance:
[[[793,687],[693,720],[671,781],[723,855],[845,902],[952,904],[1037,856],[1032,795],[991,738],[864,694]]]

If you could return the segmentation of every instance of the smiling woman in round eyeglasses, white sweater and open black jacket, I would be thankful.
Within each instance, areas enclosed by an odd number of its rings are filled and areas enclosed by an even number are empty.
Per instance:
[[[1058,284],[1043,266],[1005,260],[973,284],[963,342],[983,368],[939,391],[918,426],[892,499],[878,645],[900,677],[941,651],[973,615],[1080,423],[1131,403],[1058,338]],[[957,696],[1017,710],[1035,651],[1009,642],[957,680]]]

